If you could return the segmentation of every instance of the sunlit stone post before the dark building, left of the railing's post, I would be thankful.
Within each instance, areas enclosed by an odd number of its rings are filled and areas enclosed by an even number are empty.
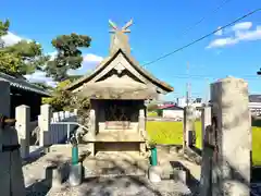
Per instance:
[[[30,123],[30,108],[22,105],[15,108],[15,128],[18,135],[18,143],[21,145],[21,157],[24,159],[29,156],[29,123]]]

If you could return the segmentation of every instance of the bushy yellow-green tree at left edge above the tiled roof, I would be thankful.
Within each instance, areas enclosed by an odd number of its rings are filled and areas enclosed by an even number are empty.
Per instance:
[[[0,40],[8,34],[10,22],[0,21]],[[39,44],[32,40],[21,40],[13,46],[4,46],[0,41],[0,72],[11,75],[32,74],[36,70],[42,70],[45,63],[49,60],[45,56]]]

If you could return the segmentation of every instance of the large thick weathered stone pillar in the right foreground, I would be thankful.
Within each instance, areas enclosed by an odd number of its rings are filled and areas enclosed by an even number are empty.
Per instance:
[[[211,84],[213,135],[217,152],[213,174],[213,195],[250,195],[251,124],[248,84],[226,77]],[[212,123],[213,124],[213,123]]]

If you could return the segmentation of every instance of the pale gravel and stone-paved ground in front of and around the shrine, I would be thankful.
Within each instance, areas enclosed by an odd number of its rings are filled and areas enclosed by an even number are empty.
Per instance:
[[[82,185],[70,187],[66,182],[59,189],[50,188],[42,179],[44,168],[50,163],[62,163],[71,160],[71,145],[55,145],[50,152],[23,167],[27,195],[189,195],[194,187],[182,181],[170,177],[173,173],[172,161],[179,161],[195,179],[199,179],[200,167],[179,158],[178,154],[158,149],[159,166],[162,169],[162,181],[149,182],[147,175],[148,159],[137,152],[98,152],[88,156],[85,145],[79,145],[79,155],[85,167],[85,179]],[[197,185],[194,185],[197,186]]]

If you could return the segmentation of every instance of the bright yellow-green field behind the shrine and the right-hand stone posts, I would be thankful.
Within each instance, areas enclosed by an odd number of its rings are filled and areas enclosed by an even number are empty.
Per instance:
[[[201,148],[201,123],[196,122],[196,146]],[[147,131],[151,140],[157,144],[183,144],[183,122],[147,122]],[[261,166],[261,127],[252,126],[252,161]]]

